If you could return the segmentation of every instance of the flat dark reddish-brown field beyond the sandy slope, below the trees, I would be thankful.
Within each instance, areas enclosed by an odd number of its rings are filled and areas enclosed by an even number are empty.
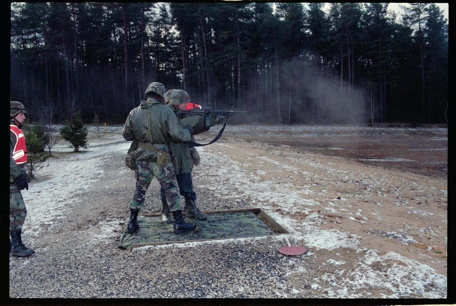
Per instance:
[[[296,135],[282,130],[280,138],[268,130],[233,134],[244,140],[290,145],[295,151],[344,157],[372,166],[447,179],[448,137],[446,129],[314,127]]]

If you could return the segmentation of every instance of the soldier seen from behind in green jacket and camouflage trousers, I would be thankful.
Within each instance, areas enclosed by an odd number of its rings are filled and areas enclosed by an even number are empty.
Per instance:
[[[139,225],[137,216],[142,208],[145,192],[155,176],[165,191],[166,203],[174,217],[174,231],[176,233],[191,231],[196,225],[189,224],[182,218],[181,202],[176,188],[176,170],[170,160],[165,166],[157,164],[157,153],[146,146],[153,145],[166,151],[168,141],[174,143],[190,141],[193,129],[186,126],[182,129],[171,109],[161,104],[165,94],[165,87],[158,82],[150,83],[145,91],[146,101],[132,109],[124,125],[122,136],[128,141],[137,141],[135,148],[136,189],[130,201],[130,221],[127,232],[134,233]]]

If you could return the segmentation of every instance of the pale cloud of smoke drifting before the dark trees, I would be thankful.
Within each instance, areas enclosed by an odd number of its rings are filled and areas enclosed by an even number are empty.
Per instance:
[[[333,73],[333,69],[320,69],[302,60],[283,63],[279,73],[274,65],[266,68],[253,73],[254,78],[247,82],[249,88],[240,104],[250,114],[248,118],[238,117],[239,123],[364,125],[368,122],[363,89],[350,86],[345,78],[341,84],[340,74]]]

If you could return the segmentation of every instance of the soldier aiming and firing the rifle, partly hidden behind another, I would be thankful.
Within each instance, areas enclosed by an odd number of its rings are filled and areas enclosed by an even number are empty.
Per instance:
[[[171,89],[165,94],[165,103],[168,105],[176,114],[181,126],[190,125],[194,128],[193,135],[205,132],[209,130],[211,126],[222,122],[225,117],[218,116],[217,118],[211,118],[210,126],[205,125],[205,120],[202,116],[192,116],[190,114],[181,114],[180,110],[185,110],[187,103],[190,103],[190,97],[188,93],[181,89]],[[192,136],[193,140],[193,136]],[[192,156],[190,150],[196,150],[195,148],[189,148],[186,143],[172,144],[174,156],[176,157],[176,180],[179,186],[181,196],[185,198],[186,203],[186,217],[196,218],[204,220],[207,218],[206,213],[202,213],[196,206],[195,200],[197,199],[196,192],[193,190],[192,182]],[[163,188],[160,190],[161,202],[163,205],[161,211],[161,219],[163,222],[171,222],[169,217],[169,207],[166,203],[165,191]]]

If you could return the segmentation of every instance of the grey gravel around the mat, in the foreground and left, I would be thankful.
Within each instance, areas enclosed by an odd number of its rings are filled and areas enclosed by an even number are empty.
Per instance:
[[[89,149],[109,144],[91,145]],[[123,152],[104,162],[104,177],[88,191],[73,194],[77,202],[68,215],[31,241],[24,226],[23,241],[36,254],[10,256],[10,297],[21,298],[227,298],[290,297],[286,273],[295,265],[309,264],[312,253],[288,258],[277,250],[284,241],[273,238],[236,239],[232,242],[198,243],[194,247],[118,249],[128,202],[133,192],[133,171],[117,180]],[[121,168],[123,170],[123,168]],[[205,210],[246,207],[230,202],[199,186]],[[33,188],[33,183],[31,184]],[[25,192],[24,192],[25,193]],[[182,200],[183,198],[181,198]],[[183,202],[183,201],[182,201]],[[33,205],[32,200],[26,205]],[[142,213],[158,213],[158,183],[152,182]],[[29,209],[29,214],[31,209]],[[108,237],[93,239],[104,223],[118,224]],[[240,240],[240,241],[239,241]],[[208,266],[208,262],[212,262]],[[24,281],[26,280],[26,281]]]

